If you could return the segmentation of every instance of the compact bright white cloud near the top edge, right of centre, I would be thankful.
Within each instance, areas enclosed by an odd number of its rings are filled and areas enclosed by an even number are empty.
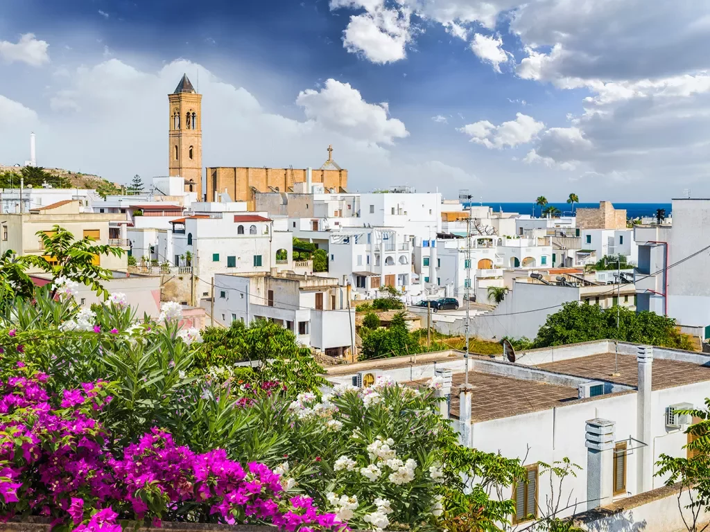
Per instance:
[[[410,13],[377,7],[350,17],[343,31],[343,45],[373,63],[385,64],[407,57],[412,40]]]

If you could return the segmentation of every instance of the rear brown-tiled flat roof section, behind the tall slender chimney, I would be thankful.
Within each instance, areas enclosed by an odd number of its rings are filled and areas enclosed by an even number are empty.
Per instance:
[[[612,377],[614,372],[614,353],[600,353],[586,357],[548,362],[536,366],[540,370],[574,375],[590,380],[605,380],[627,386],[638,386],[638,362],[634,355],[618,355],[618,377]],[[665,389],[695,382],[710,381],[710,367],[693,364],[692,362],[677,362],[654,358],[651,386],[652,389]]]

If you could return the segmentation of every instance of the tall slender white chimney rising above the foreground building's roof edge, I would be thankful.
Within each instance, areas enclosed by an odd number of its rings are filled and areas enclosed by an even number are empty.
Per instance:
[[[653,446],[651,436],[651,373],[653,366],[653,348],[639,345],[636,354],[638,362],[638,391],[636,392],[636,433],[644,445],[636,450],[638,493],[653,489]]]

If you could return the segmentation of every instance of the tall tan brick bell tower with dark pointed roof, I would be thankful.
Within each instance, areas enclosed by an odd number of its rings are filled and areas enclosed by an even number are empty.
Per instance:
[[[202,201],[202,94],[184,74],[168,102],[168,175],[185,179],[185,192],[197,192]]]

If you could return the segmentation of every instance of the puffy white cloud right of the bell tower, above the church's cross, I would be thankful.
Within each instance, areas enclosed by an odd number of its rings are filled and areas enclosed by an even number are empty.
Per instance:
[[[357,89],[335,79],[328,79],[320,91],[302,91],[296,104],[317,125],[354,135],[368,143],[393,144],[395,139],[409,135],[402,121],[388,118],[387,104],[368,104]]]

